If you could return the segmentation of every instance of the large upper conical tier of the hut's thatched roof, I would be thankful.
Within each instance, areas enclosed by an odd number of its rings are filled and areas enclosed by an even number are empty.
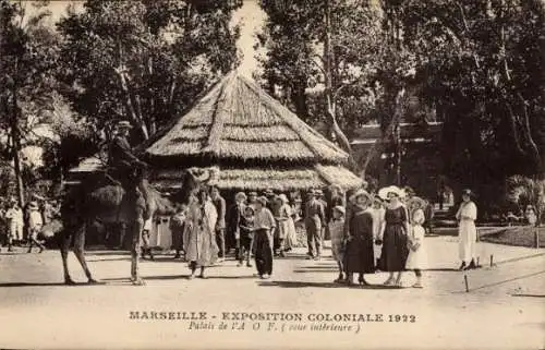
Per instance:
[[[144,154],[153,162],[186,157],[235,164],[339,165],[348,160],[346,152],[235,72],[146,143]]]

